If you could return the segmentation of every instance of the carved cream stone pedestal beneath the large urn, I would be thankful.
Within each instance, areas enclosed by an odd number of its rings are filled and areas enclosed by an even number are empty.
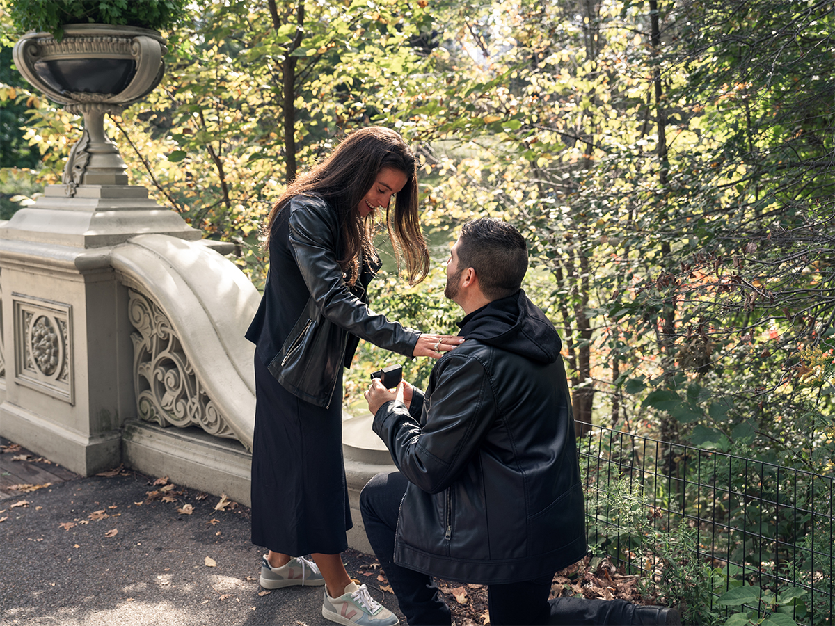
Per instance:
[[[0,225],[0,430],[83,475],[119,464],[122,422],[136,412],[129,298],[110,251],[146,232],[200,238],[129,185],[73,197],[53,185]]]

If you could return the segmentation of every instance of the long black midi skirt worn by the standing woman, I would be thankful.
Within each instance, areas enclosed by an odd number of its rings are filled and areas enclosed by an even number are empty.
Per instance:
[[[287,391],[256,355],[252,543],[293,557],[347,547],[342,371],[328,408]]]

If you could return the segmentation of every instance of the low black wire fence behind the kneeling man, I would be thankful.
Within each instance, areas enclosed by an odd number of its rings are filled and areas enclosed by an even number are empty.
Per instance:
[[[679,558],[706,573],[703,602],[718,615],[757,611],[762,618],[777,608],[774,598],[797,598],[782,612],[799,624],[832,624],[835,478],[584,426],[590,544],[627,573],[657,579],[663,565],[649,535],[678,529],[691,537],[693,552]],[[733,588],[747,591],[749,601],[719,603]]]

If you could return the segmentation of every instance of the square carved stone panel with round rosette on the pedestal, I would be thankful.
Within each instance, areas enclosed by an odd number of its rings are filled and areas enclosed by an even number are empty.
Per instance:
[[[73,404],[72,307],[12,294],[15,380]]]

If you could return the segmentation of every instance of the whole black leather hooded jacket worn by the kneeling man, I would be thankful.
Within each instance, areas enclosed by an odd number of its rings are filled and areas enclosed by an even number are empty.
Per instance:
[[[553,574],[586,553],[559,336],[524,291],[460,326],[465,341],[436,363],[425,396],[374,416],[409,480],[394,561],[467,583]]]

